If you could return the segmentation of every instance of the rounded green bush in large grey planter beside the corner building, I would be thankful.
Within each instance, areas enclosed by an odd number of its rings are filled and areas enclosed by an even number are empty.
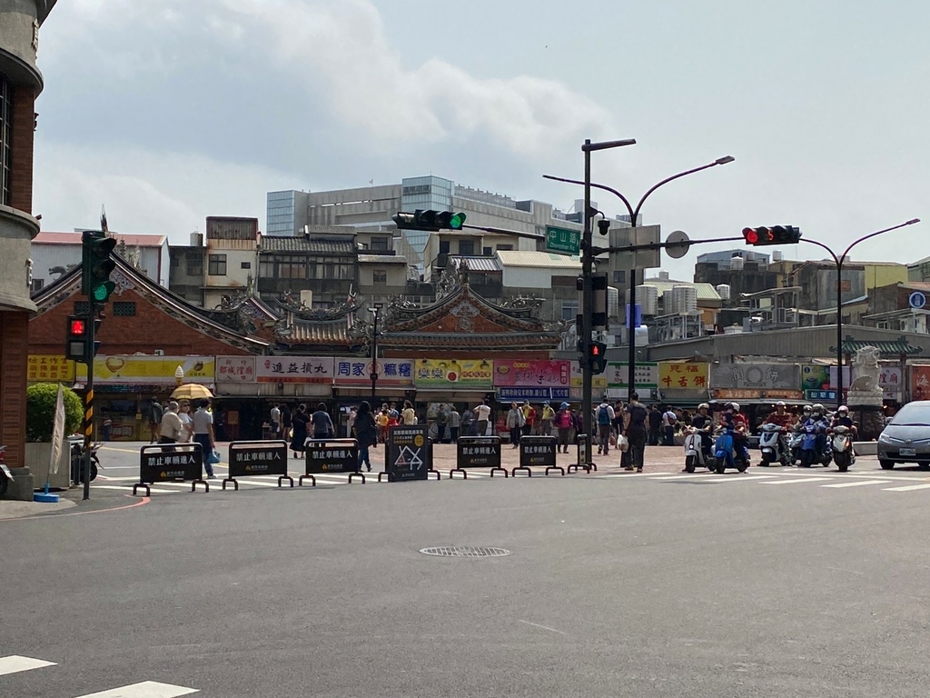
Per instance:
[[[58,400],[58,383],[35,383],[26,389],[26,465],[34,477],[34,484],[45,484],[48,463],[52,452],[52,431],[55,427],[55,403]],[[65,388],[64,436],[61,444],[59,472],[49,477],[49,485],[68,489],[71,485],[71,452],[67,436],[81,427],[84,421],[84,403],[71,388]]]

